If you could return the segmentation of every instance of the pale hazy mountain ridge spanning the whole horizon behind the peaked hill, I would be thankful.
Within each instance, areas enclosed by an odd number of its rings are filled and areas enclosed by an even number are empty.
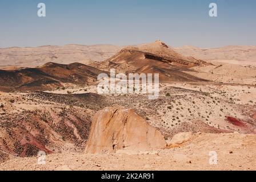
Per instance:
[[[158,41],[158,46],[163,42]],[[153,43],[150,43],[151,46]],[[129,46],[126,48],[140,47],[149,48],[150,44],[141,44],[138,46]],[[165,43],[163,43],[165,44]],[[157,46],[156,44],[154,46]],[[167,46],[165,45],[162,45]],[[170,46],[169,46],[170,47]],[[101,62],[114,56],[121,51],[123,46],[113,45],[94,45],[82,46],[69,44],[66,46],[40,46],[40,47],[11,47],[0,48],[0,69],[9,67],[37,67],[48,62],[70,64],[82,63],[92,64],[94,61]],[[220,48],[199,48],[195,46],[170,47],[173,51],[184,56],[192,56],[201,60],[235,60],[255,61],[256,62],[256,46],[225,46]],[[149,50],[149,52],[154,50]],[[158,52],[154,52],[159,55]],[[161,56],[161,55],[159,55]]]

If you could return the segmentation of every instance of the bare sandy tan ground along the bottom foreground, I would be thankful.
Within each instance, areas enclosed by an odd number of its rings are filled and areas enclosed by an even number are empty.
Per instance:
[[[0,164],[1,170],[256,170],[256,135],[195,134],[176,148],[143,154],[85,155],[51,154],[46,164],[38,158],[14,158]],[[210,164],[210,151],[217,164]]]

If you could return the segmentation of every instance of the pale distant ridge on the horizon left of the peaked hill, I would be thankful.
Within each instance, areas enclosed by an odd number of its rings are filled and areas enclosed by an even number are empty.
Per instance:
[[[111,45],[66,45],[41,47],[11,47],[0,49],[0,66],[37,67],[48,62],[90,64],[103,61],[122,47]]]

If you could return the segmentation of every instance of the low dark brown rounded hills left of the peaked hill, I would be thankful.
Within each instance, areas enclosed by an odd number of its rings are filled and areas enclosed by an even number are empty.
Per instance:
[[[42,67],[0,70],[0,90],[51,90],[69,85],[85,85],[97,81],[103,71],[81,63],[46,63]]]

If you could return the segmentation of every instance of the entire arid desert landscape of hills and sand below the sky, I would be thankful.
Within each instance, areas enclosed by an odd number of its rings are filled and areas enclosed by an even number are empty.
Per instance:
[[[98,94],[110,69],[158,73],[158,99]],[[256,170],[255,151],[256,46],[0,48],[0,170]]]

